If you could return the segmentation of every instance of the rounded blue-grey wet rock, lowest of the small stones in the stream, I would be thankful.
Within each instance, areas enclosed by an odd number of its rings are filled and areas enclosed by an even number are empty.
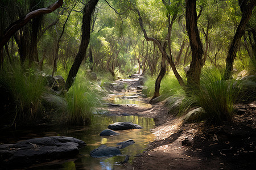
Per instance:
[[[93,158],[101,158],[105,156],[115,155],[121,155],[121,151],[116,147],[108,147],[105,145],[101,145],[90,152],[90,156],[92,156]]]

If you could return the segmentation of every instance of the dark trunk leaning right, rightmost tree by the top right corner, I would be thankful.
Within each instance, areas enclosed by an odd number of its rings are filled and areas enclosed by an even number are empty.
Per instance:
[[[226,57],[226,70],[224,73],[225,80],[228,80],[230,78],[231,72],[233,70],[234,58],[236,58],[237,49],[240,46],[241,37],[245,33],[246,24],[251,18],[251,12],[253,11],[253,8],[255,5],[256,5],[255,0],[243,1],[240,4],[241,11],[242,11],[242,18],[237,27],[237,31],[236,31],[236,34],[234,35],[232,44],[230,45],[228,56]]]

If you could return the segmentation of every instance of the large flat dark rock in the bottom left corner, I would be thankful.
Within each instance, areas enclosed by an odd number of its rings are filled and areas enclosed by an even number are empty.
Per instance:
[[[44,137],[28,139],[16,144],[0,146],[0,169],[26,167],[55,159],[71,158],[79,154],[85,142],[72,137]]]

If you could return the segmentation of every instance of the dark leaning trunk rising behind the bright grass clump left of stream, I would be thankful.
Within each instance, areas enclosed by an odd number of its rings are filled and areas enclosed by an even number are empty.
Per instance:
[[[76,55],[75,61],[69,71],[68,78],[65,83],[65,90],[67,91],[71,88],[82,60],[85,58],[86,49],[90,40],[91,15],[97,5],[97,2],[98,0],[90,0],[84,7],[84,14],[82,16],[82,40],[79,52]]]

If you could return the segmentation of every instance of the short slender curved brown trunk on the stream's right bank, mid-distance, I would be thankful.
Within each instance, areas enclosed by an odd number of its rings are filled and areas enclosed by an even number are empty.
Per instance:
[[[158,74],[158,78],[156,78],[156,80],[155,80],[155,92],[154,92],[153,97],[149,101],[149,103],[152,103],[153,99],[160,96],[160,84],[161,84],[161,81],[162,81],[165,74],[166,74],[166,58],[162,57],[161,69],[160,69],[160,72]]]

